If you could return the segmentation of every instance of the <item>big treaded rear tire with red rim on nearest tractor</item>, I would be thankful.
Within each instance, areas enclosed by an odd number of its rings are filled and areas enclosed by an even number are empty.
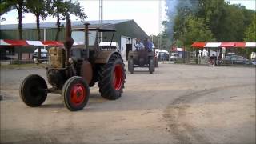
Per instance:
[[[100,66],[98,87],[103,98],[115,100],[121,97],[126,79],[124,67],[118,54],[111,55],[109,62]]]

